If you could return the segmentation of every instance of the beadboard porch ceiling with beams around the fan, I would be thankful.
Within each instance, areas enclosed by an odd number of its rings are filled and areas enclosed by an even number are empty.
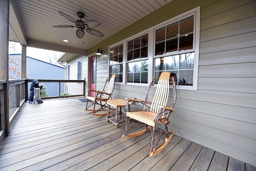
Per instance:
[[[9,40],[22,45],[86,55],[86,50],[136,22],[150,12],[172,0],[10,0]],[[95,29],[103,37],[85,32],[76,37],[74,28],[53,28],[54,25],[73,25],[61,16],[60,10],[75,20],[77,12],[85,14],[84,20],[98,20]],[[68,40],[69,42],[64,42]]]

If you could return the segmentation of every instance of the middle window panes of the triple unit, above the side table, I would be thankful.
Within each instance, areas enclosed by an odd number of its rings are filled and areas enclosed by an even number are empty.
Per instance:
[[[148,83],[148,34],[127,42],[127,82]]]

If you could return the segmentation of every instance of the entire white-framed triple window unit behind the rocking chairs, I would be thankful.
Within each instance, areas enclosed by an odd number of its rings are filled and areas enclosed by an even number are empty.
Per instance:
[[[199,34],[197,7],[113,45],[110,74],[122,76],[118,82],[124,84],[145,85],[167,71],[177,89],[197,90]]]

